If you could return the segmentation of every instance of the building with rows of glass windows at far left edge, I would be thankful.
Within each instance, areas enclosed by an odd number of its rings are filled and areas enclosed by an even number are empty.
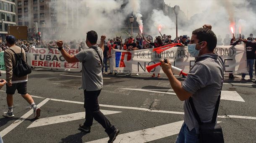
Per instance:
[[[8,33],[8,26],[16,26],[15,0],[0,0],[0,41],[4,41]]]

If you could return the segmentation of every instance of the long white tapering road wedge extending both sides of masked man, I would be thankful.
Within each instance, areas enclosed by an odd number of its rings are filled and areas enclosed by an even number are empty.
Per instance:
[[[164,94],[172,94],[176,95],[175,93],[172,92],[159,92],[159,91],[154,91],[154,90],[159,90],[159,89],[136,89],[136,88],[122,88],[122,89],[127,89],[127,90],[136,90],[136,91],[143,91],[143,92],[154,92],[154,93],[164,93]],[[162,91],[173,91],[171,89],[162,89]],[[232,101],[240,101],[240,102],[245,102],[243,98],[238,94],[236,91],[221,91],[221,100],[232,100]]]

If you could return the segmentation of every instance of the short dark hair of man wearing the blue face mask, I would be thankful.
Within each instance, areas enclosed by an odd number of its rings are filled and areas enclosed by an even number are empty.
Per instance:
[[[196,35],[199,42],[206,41],[209,51],[213,51],[217,46],[217,37],[214,32],[208,28],[198,28],[192,32],[192,35]]]

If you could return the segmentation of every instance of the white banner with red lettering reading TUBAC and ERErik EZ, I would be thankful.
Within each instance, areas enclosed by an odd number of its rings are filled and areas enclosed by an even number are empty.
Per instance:
[[[67,51],[68,54],[78,53],[78,49]],[[78,69],[81,70],[81,63],[68,63],[58,49],[31,49],[27,53],[27,62],[33,67],[44,67],[54,69]]]

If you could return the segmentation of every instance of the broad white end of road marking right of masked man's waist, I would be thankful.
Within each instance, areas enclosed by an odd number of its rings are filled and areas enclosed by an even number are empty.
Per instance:
[[[236,91],[221,91],[220,99],[245,102]]]

